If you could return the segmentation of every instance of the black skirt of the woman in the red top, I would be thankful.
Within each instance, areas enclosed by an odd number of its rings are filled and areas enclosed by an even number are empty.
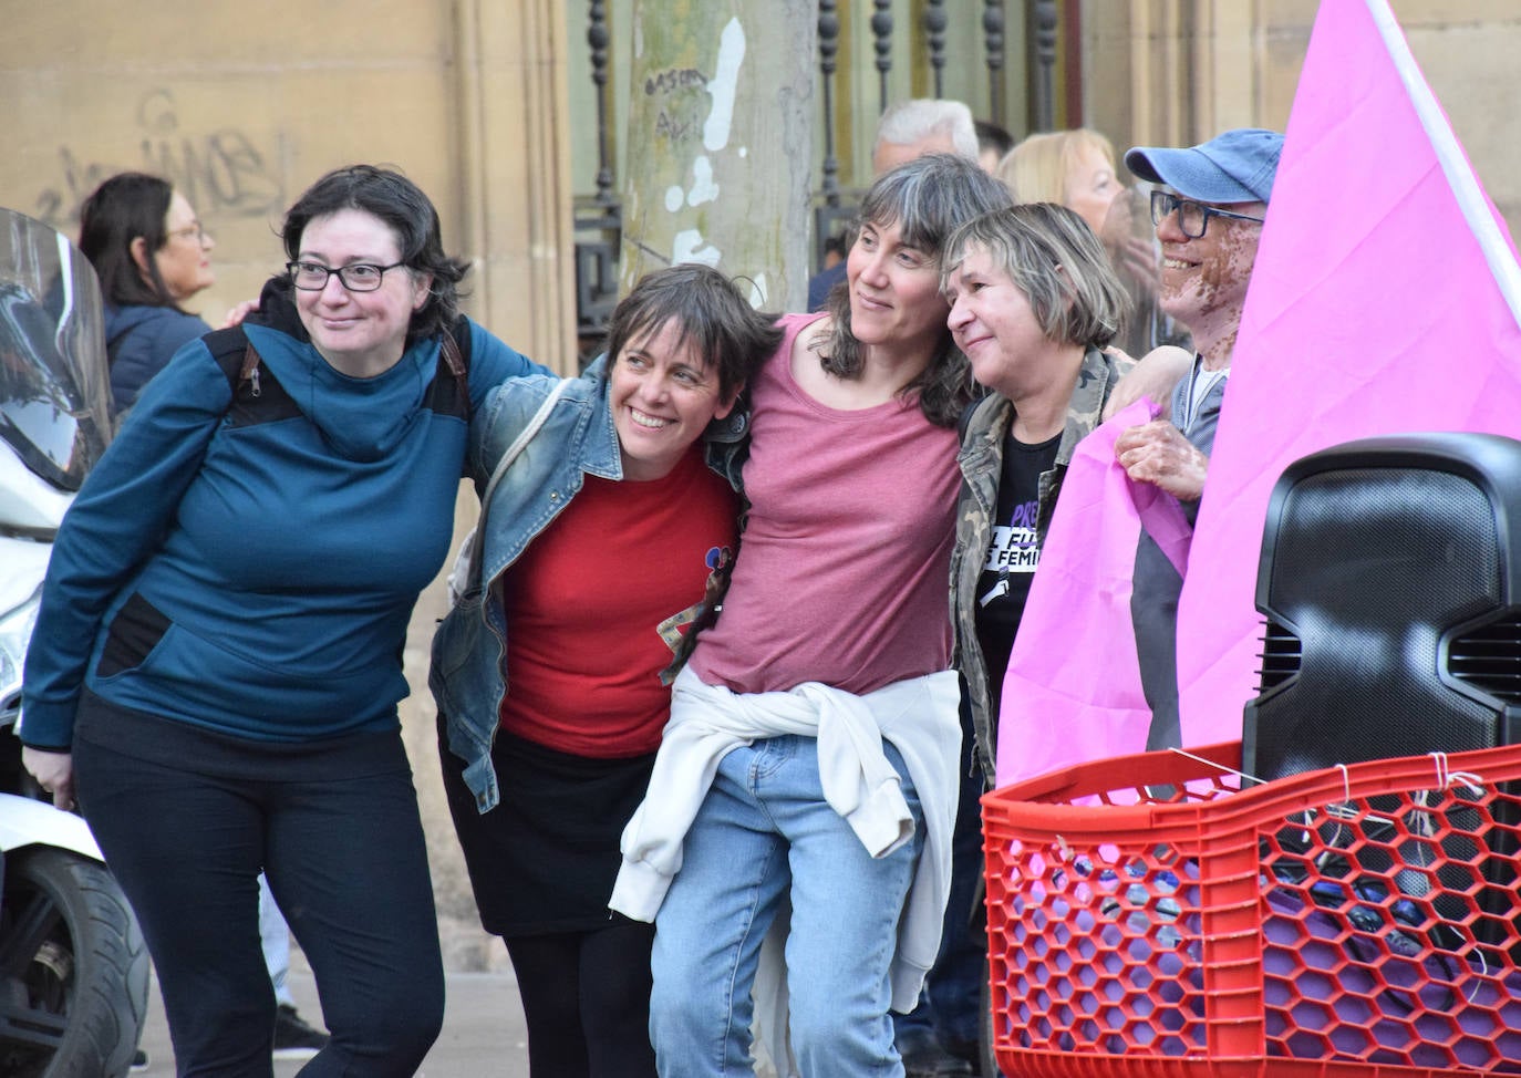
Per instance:
[[[502,800],[476,812],[440,718],[438,756],[481,924],[500,937],[587,932],[627,921],[607,908],[624,824],[656,756],[599,760],[499,731],[491,748]]]

